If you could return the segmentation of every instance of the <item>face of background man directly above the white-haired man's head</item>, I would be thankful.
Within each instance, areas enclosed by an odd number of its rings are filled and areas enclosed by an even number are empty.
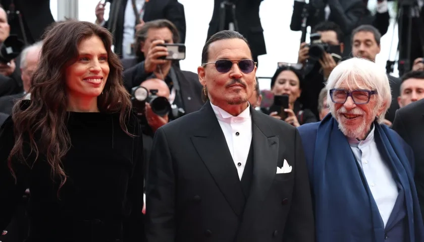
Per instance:
[[[380,46],[371,32],[357,32],[353,36],[352,52],[354,57],[363,57],[375,62],[376,56],[380,53]]]

